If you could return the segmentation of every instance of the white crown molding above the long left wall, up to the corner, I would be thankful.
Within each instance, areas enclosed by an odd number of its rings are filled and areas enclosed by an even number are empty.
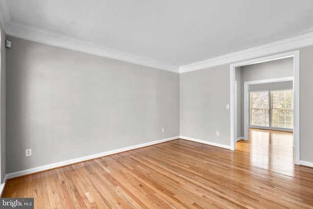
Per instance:
[[[147,66],[151,68],[167,70],[179,73],[179,66],[162,63],[150,58],[116,50],[107,46],[94,44],[81,39],[76,39],[63,34],[54,33],[48,30],[39,29],[29,25],[16,23],[11,21],[10,13],[6,0],[0,0],[0,23],[6,35],[35,41],[52,46],[59,46],[76,51],[81,51],[98,56],[108,57],[121,60],[137,65]]]

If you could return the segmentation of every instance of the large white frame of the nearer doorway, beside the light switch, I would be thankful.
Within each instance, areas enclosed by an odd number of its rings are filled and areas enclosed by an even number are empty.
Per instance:
[[[236,137],[235,136],[235,127],[237,121],[235,110],[235,69],[237,67],[242,67],[246,65],[252,65],[256,63],[262,63],[272,60],[283,59],[287,57],[293,57],[293,143],[294,143],[294,164],[300,164],[300,101],[299,101],[299,87],[300,87],[300,79],[299,79],[299,50],[289,51],[285,53],[270,55],[266,57],[261,57],[252,60],[246,60],[238,63],[230,64],[230,149],[236,149]],[[246,124],[246,121],[245,121]],[[245,132],[246,133],[246,132]]]

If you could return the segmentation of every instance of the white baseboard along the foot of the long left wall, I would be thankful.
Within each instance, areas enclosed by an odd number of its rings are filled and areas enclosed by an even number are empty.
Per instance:
[[[94,155],[89,155],[89,156],[85,156],[82,158],[76,158],[76,159],[72,159],[72,160],[68,160],[68,161],[63,161],[63,162],[59,162],[59,163],[52,163],[52,164],[48,164],[48,165],[44,165],[44,166],[40,166],[40,167],[30,168],[30,169],[26,169],[26,170],[14,172],[14,173],[9,173],[9,174],[5,175],[3,183],[5,183],[5,181],[7,179],[11,179],[11,178],[31,174],[31,173],[37,173],[40,171],[45,171],[45,170],[73,164],[73,163],[88,161],[88,160],[92,160],[95,158],[100,158],[100,157],[104,157],[104,156],[108,156],[108,155],[112,155],[112,154],[116,154],[116,153],[120,153],[120,152],[125,152],[125,151],[129,151],[129,150],[133,150],[133,149],[137,149],[137,148],[141,148],[141,147],[145,147],[145,146],[150,146],[150,145],[154,145],[154,144],[158,144],[158,143],[162,143],[162,142],[166,142],[166,141],[171,141],[174,139],[179,139],[179,136],[168,138],[168,139],[151,141],[151,142],[147,142],[147,143],[143,143],[143,144],[138,144],[138,145],[129,146],[129,147],[120,148],[120,149],[115,149],[115,150],[102,152],[102,153],[98,153],[98,154],[94,154]]]

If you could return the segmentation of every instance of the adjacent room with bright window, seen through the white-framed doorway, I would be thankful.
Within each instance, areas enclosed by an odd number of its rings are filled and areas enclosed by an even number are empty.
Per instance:
[[[236,68],[236,144],[263,153],[252,155],[255,164],[294,164],[293,67],[294,59],[288,57]]]

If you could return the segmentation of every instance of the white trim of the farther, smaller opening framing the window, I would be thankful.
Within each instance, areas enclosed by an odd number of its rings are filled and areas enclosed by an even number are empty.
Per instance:
[[[249,130],[249,105],[248,105],[249,104],[249,101],[248,101],[249,85],[272,83],[272,82],[283,82],[283,81],[293,81],[293,77],[271,78],[271,79],[265,79],[265,80],[244,82],[244,138],[245,140],[248,140],[248,130]]]

